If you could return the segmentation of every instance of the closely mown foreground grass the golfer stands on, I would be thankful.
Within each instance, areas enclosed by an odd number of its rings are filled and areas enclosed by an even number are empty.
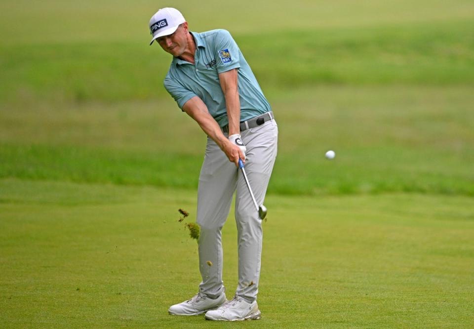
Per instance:
[[[472,328],[472,198],[268,196],[259,328]],[[0,181],[0,327],[221,327],[167,314],[200,281],[196,192]],[[224,227],[227,296],[236,228]]]

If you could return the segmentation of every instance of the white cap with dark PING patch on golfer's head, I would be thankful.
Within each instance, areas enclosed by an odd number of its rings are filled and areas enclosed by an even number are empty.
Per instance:
[[[175,8],[159,9],[150,19],[150,34],[153,36],[150,45],[155,39],[174,33],[178,26],[184,22],[186,20],[179,10]]]

